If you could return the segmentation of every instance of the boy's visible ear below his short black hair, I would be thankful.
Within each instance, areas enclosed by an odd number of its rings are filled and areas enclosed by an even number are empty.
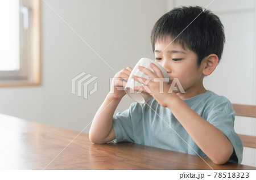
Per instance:
[[[208,76],[212,74],[218,64],[218,56],[210,54],[203,59],[203,74]]]

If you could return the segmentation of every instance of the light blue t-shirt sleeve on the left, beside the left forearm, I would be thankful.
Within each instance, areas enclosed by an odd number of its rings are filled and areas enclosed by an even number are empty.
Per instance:
[[[129,109],[113,115],[113,128],[116,137],[116,139],[114,139],[115,143],[134,143],[133,117],[138,113],[138,106],[137,102],[133,102]]]

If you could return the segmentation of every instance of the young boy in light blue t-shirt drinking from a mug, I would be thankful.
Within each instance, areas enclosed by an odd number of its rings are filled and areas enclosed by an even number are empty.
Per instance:
[[[114,115],[126,95],[117,87],[125,86],[121,79],[127,79],[132,68],[117,72],[113,93],[108,93],[90,127],[91,142],[115,139],[117,143],[133,142],[205,156],[215,164],[241,163],[243,144],[234,131],[232,104],[203,85],[204,76],[212,74],[221,59],[224,42],[224,27],[209,10],[180,7],[164,14],[152,29],[151,43],[155,61],[168,72],[170,82],[162,82],[160,93],[159,82],[154,81],[163,78],[160,69],[153,63],[149,66],[154,72],[139,67],[152,79],[134,90],[142,88],[147,92],[147,86],[153,98],[145,104],[134,102],[129,109]],[[179,79],[185,93],[168,92],[174,78]]]

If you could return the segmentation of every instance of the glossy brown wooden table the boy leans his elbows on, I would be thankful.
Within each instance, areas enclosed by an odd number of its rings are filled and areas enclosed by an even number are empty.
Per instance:
[[[0,133],[0,169],[211,169],[199,156],[134,143],[93,144],[84,132],[77,136],[77,131],[3,114]],[[256,169],[204,160],[213,169]]]

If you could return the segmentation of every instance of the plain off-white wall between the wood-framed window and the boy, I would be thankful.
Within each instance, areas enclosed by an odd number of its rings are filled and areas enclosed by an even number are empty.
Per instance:
[[[153,58],[150,32],[167,2],[44,1],[113,70],[42,1],[42,85],[0,88],[0,113],[81,131],[109,92],[109,78],[142,57]],[[72,78],[83,71],[98,76],[98,91],[88,99],[71,93]],[[131,102],[124,97],[116,112]]]

